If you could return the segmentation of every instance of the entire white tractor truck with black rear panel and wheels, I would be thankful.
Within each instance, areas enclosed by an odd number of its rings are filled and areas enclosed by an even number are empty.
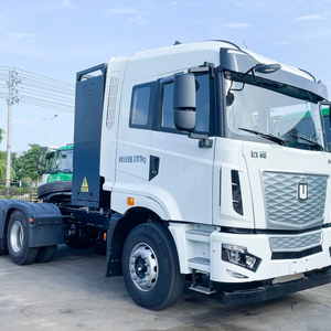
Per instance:
[[[0,201],[0,252],[106,246],[106,277],[159,310],[191,289],[252,303],[331,280],[331,158],[309,73],[226,41],[77,73],[71,199]],[[82,276],[83,277],[83,276]]]

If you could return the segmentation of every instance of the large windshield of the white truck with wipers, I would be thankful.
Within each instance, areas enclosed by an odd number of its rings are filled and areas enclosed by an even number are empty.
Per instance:
[[[271,76],[271,75],[270,75]],[[318,103],[291,86],[236,82],[225,73],[226,137],[287,147],[322,150],[324,147]],[[264,87],[261,87],[264,86]],[[288,89],[288,94],[286,95]],[[285,94],[284,94],[285,93]]]

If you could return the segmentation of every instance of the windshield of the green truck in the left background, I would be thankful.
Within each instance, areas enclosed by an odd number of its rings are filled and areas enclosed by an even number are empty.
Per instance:
[[[73,172],[73,149],[57,150],[46,156],[46,172]]]

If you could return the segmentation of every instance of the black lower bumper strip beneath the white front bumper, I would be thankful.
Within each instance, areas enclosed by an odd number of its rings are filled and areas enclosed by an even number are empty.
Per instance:
[[[249,305],[271,300],[278,297],[291,295],[309,288],[331,282],[331,268],[323,273],[307,275],[301,279],[282,284],[263,286],[255,289],[237,290],[222,293],[222,302],[225,306]]]

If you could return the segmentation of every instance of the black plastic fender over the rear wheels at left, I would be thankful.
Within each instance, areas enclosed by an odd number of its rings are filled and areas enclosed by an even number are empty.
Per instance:
[[[13,211],[21,211],[30,222],[29,247],[64,243],[63,218],[52,203],[32,203],[23,200],[0,200],[0,254],[7,250],[7,226]]]

